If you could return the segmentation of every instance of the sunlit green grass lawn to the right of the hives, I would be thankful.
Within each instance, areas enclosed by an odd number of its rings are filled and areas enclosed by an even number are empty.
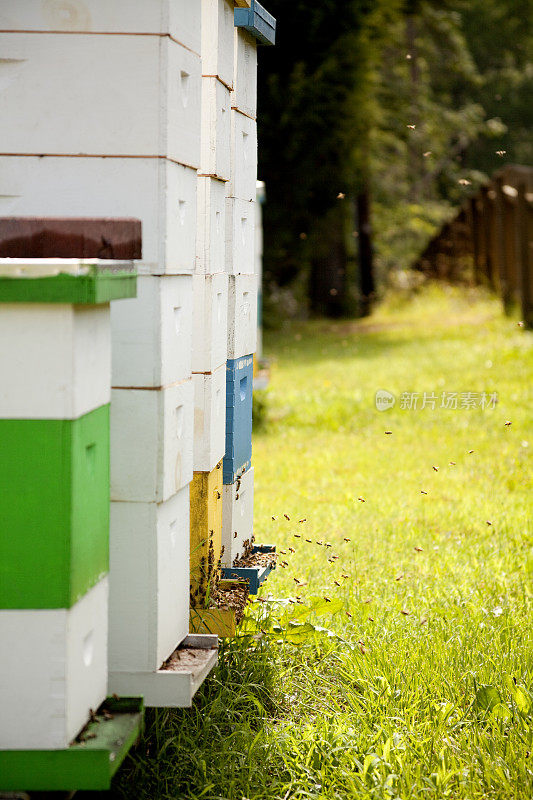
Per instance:
[[[194,708],[148,715],[116,796],[531,800],[532,345],[435,288],[267,336],[255,533],[287,566]]]

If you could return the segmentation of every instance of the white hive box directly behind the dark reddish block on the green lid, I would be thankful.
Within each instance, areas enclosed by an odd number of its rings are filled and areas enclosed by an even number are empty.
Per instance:
[[[192,273],[196,182],[196,170],[165,159],[0,156],[0,214],[135,217],[139,273]]]

